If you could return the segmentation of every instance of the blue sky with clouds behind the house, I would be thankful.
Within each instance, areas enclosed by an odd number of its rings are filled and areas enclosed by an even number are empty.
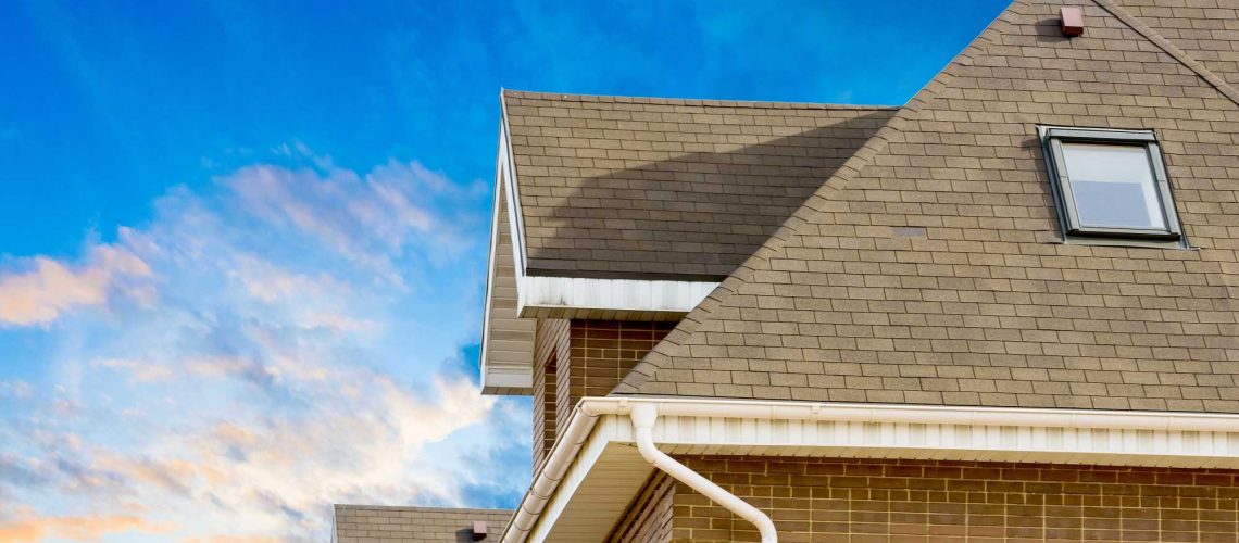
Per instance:
[[[501,88],[903,104],[1006,2],[0,5],[0,541],[514,507]]]

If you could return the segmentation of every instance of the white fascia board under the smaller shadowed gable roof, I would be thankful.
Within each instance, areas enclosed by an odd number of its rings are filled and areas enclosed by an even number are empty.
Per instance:
[[[719,287],[716,281],[603,280],[524,276],[517,309],[607,309],[688,313]]]

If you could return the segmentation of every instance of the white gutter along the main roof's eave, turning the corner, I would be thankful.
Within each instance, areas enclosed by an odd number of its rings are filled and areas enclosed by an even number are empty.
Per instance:
[[[650,417],[650,412],[653,417]],[[652,435],[653,419],[657,417],[1239,433],[1239,416],[1217,413],[818,403],[688,397],[608,396],[582,398],[572,411],[572,419],[564,437],[555,442],[550,456],[535,476],[529,492],[522,500],[520,508],[517,510],[515,517],[504,531],[502,541],[513,543],[525,541],[525,537],[538,523],[548,500],[556,491],[559,481],[563,480],[564,474],[575,460],[581,444],[590,437],[593,425],[601,416],[631,416],[638,430],[637,447],[642,456],[664,471],[668,471],[668,469],[663,465],[669,464],[665,464],[665,460],[660,460],[660,458],[667,455],[654,447]],[[647,422],[648,425],[646,425]],[[647,432],[641,432],[643,427],[647,428]],[[649,435],[648,443],[644,447],[642,447],[642,442],[647,440],[647,438],[642,437],[642,434]],[[652,453],[662,456],[653,455]],[[652,456],[655,460],[660,460],[663,465],[652,461]],[[670,456],[667,456],[667,459],[675,463]],[[680,465],[679,463],[675,464]],[[683,468],[683,465],[680,466]],[[686,470],[686,468],[684,469]],[[670,471],[668,474],[675,476]],[[701,477],[700,474],[691,474]],[[691,482],[684,479],[678,476],[675,479],[693,486]],[[701,477],[701,480],[705,480],[705,477]],[[705,482],[714,485],[709,480],[705,480]],[[710,496],[706,491],[696,486],[693,487]],[[711,498],[715,500],[712,496]],[[736,512],[740,515],[738,511]],[[760,511],[757,512],[761,513]],[[761,524],[757,521],[743,515],[741,516],[758,524],[758,529],[761,529]],[[766,541],[764,532],[762,536],[763,541]]]

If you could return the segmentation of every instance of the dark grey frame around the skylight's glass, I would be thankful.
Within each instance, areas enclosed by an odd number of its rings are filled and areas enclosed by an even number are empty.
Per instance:
[[[1041,136],[1046,155],[1046,167],[1049,171],[1049,181],[1054,192],[1054,204],[1058,208],[1058,218],[1062,223],[1064,237],[1160,241],[1173,246],[1181,244],[1183,229],[1180,225],[1178,213],[1175,209],[1175,198],[1171,192],[1170,178],[1166,176],[1166,161],[1162,157],[1161,145],[1157,142],[1157,135],[1152,130],[1038,126],[1037,132]],[[1072,181],[1067,173],[1063,143],[1109,143],[1144,147],[1152,166],[1154,183],[1166,228],[1103,228],[1082,224],[1079,208],[1075,205],[1075,197],[1072,192]]]

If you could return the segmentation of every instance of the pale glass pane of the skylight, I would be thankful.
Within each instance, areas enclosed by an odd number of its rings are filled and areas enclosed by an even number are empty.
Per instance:
[[[1144,146],[1063,142],[1082,226],[1165,229]]]

